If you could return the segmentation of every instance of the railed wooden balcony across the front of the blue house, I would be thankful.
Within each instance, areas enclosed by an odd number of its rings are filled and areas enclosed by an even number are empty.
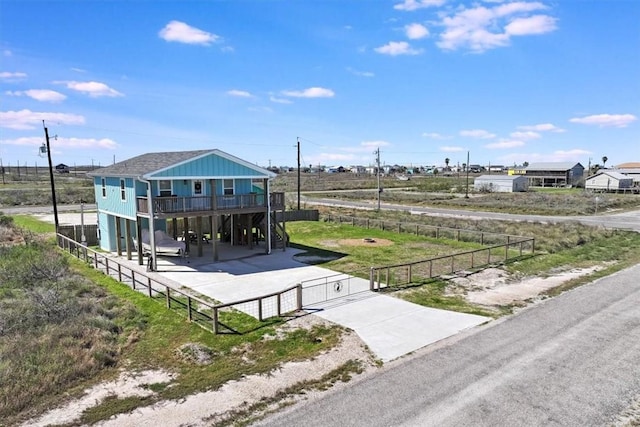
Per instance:
[[[284,209],[284,193],[270,193],[272,211]],[[149,215],[146,197],[137,198],[138,215]],[[224,196],[168,196],[153,198],[153,213],[158,218],[263,212],[267,209],[265,194],[234,194]]]

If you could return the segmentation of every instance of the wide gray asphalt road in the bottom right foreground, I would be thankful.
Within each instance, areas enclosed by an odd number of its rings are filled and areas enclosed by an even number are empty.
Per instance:
[[[574,289],[257,425],[606,425],[640,393],[639,277]]]

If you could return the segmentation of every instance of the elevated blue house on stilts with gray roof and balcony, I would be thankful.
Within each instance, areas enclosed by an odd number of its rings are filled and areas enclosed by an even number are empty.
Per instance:
[[[264,245],[265,253],[286,245],[284,223],[276,221],[284,193],[269,189],[275,174],[223,151],[148,153],[89,175],[100,247],[128,259],[137,251],[140,264],[144,255],[155,263],[164,248],[202,256],[209,243],[217,261],[221,242]]]

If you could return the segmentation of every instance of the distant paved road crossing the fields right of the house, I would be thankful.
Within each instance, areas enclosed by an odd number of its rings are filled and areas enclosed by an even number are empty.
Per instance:
[[[302,198],[308,205],[325,205],[340,206],[356,209],[375,209],[377,203],[342,201],[335,199],[316,199],[310,197]],[[640,231],[640,210],[629,211],[619,214],[593,215],[593,216],[545,216],[545,215],[518,215],[506,214],[498,212],[480,212],[467,211],[462,209],[443,209],[443,208],[425,208],[417,206],[397,205],[392,203],[381,203],[380,209],[405,211],[416,214],[425,214],[432,216],[446,216],[458,218],[470,218],[474,220],[480,219],[496,219],[505,221],[534,221],[534,222],[561,222],[561,221],[579,221],[588,225],[602,225],[607,228],[621,228],[628,230]]]

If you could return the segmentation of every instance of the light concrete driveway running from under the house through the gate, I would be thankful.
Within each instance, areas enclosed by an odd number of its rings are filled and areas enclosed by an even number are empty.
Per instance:
[[[161,257],[158,274],[223,303],[302,283],[307,312],[353,329],[384,362],[491,320],[371,292],[368,280],[296,261],[295,255],[301,251],[293,248],[265,255],[260,248],[225,246],[221,253],[245,257],[215,263],[209,251],[205,246],[202,258]],[[338,282],[341,289],[336,292]],[[326,296],[331,299],[325,301]]]

